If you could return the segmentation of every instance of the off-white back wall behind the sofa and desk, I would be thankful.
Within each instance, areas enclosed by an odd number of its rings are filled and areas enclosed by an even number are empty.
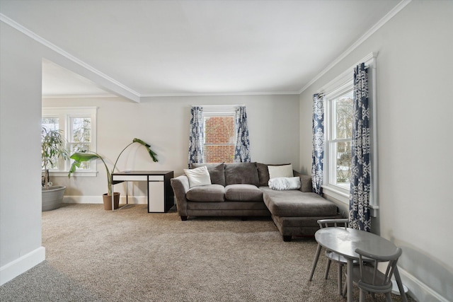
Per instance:
[[[123,153],[118,168],[174,170],[175,175],[182,174],[188,165],[190,106],[244,104],[252,161],[293,163],[294,168],[299,166],[298,95],[165,97],[147,98],[142,103],[132,103],[123,98],[48,98],[42,104],[43,107],[98,107],[98,153],[115,161],[122,148],[138,137],[151,144],[159,162],[153,163],[146,151],[137,145]],[[67,186],[67,202],[101,202],[101,194],[107,190],[101,163],[98,163],[98,171],[96,178],[54,177],[52,182]],[[144,184],[130,184],[129,189],[134,190],[132,194],[137,196],[131,202],[146,200]],[[125,192],[124,185],[117,185],[115,190]]]

